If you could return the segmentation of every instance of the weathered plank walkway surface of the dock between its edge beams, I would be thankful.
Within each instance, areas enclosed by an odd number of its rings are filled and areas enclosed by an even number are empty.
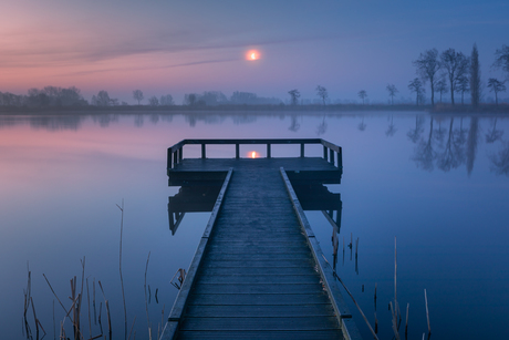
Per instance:
[[[342,339],[280,163],[242,161],[236,159],[176,338]]]

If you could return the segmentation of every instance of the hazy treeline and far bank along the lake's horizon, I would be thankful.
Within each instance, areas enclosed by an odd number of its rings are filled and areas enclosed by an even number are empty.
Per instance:
[[[385,90],[388,93],[388,104],[374,102],[370,103],[368,93],[360,90],[357,96],[362,104],[349,101],[334,101],[331,103],[329,92],[324,86],[315,87],[316,99],[302,100],[298,89],[288,91],[289,99],[285,102],[277,97],[261,97],[256,93],[236,91],[228,99],[220,91],[205,91],[202,93],[187,93],[184,95],[181,105],[176,105],[170,94],[157,97],[155,95],[144,102],[145,96],[141,90],[133,91],[133,99],[137,105],[129,105],[117,99],[110,96],[107,91],[100,91],[92,100],[86,101],[81,91],[74,86],[69,89],[45,86],[42,90],[30,89],[27,95],[15,95],[12,93],[0,92],[1,111],[45,111],[61,107],[63,110],[433,110],[433,111],[490,111],[490,112],[509,112],[508,104],[499,105],[499,94],[506,92],[506,81],[509,80],[509,47],[502,45],[495,52],[492,69],[501,70],[506,79],[499,80],[490,78],[485,83],[481,81],[479,53],[477,45],[474,44],[470,55],[457,52],[455,49],[448,49],[438,52],[436,49],[426,50],[413,61],[416,68],[417,78],[408,82],[408,90],[415,94],[415,105],[419,109],[411,107],[406,101],[399,103],[394,101],[398,89],[394,84],[387,84]],[[429,87],[428,87],[429,86]],[[426,97],[426,87],[429,89],[429,100]],[[495,100],[484,95],[484,90],[492,92]],[[456,105],[457,99],[455,93],[460,97],[461,105]],[[437,94],[438,100],[435,99]],[[445,103],[445,97],[450,94],[450,101]],[[485,102],[484,104],[481,104]],[[487,104],[486,102],[489,102]],[[492,105],[495,104],[495,105]]]

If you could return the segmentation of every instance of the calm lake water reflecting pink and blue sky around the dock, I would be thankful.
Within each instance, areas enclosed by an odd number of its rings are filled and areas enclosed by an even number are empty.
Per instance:
[[[28,268],[45,339],[53,339],[53,315],[56,338],[62,321],[72,334],[43,274],[69,309],[70,280],[76,276],[81,289],[83,258],[84,337],[101,333],[94,322],[95,291],[95,318],[101,309],[106,330],[107,299],[113,338],[124,338],[116,206],[123,199],[128,329],[136,318],[133,334],[148,339],[148,310],[155,338],[177,293],[169,281],[178,268],[189,266],[209,215],[186,214],[172,236],[167,203],[178,188],[167,186],[166,148],[183,138],[240,137],[321,137],[343,147],[342,184],[330,186],[343,202],[337,271],[372,324],[376,285],[381,339],[393,337],[387,307],[394,299],[395,237],[397,299],[403,315],[409,303],[409,339],[427,332],[424,289],[432,339],[509,337],[508,119],[271,112],[0,116],[1,338],[25,338]],[[298,146],[273,147],[273,156],[299,152]],[[263,154],[263,148],[242,153]],[[189,148],[185,155],[198,152]],[[207,156],[233,157],[235,151],[211,147]],[[331,226],[321,213],[307,214],[332,262]],[[349,244],[351,237],[354,245],[359,238],[356,266],[350,249],[343,258],[343,238]],[[370,339],[363,319],[343,295],[359,329]],[[34,334],[31,309],[28,316]]]

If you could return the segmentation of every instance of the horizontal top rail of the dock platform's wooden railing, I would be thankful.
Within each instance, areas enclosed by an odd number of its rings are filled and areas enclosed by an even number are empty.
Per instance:
[[[322,144],[335,152],[341,147],[322,138],[240,138],[240,140],[183,140],[169,147],[176,152],[186,144]]]

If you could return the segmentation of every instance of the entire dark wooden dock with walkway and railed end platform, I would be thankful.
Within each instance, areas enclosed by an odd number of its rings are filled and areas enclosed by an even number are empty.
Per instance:
[[[304,145],[316,143],[324,157],[304,157]],[[184,158],[186,144],[204,145],[202,158]],[[236,157],[206,158],[207,144],[232,144]],[[240,158],[240,144],[267,144],[267,157]],[[273,144],[300,144],[301,155],[270,157]],[[208,183],[218,194],[162,339],[361,339],[292,186],[341,175],[341,148],[322,140],[170,147],[170,185]],[[209,206],[210,197],[190,210]]]

